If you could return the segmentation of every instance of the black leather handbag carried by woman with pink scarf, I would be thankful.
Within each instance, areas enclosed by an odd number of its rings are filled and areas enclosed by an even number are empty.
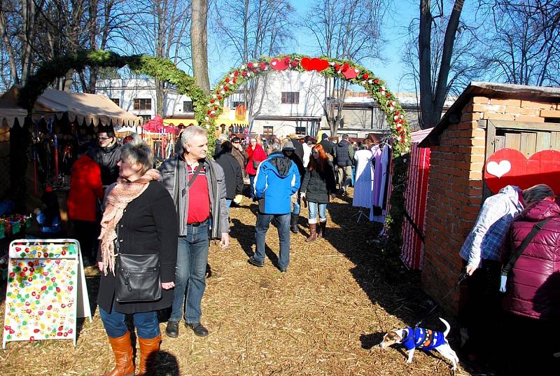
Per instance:
[[[162,298],[160,255],[118,253],[116,262],[117,302],[153,302]]]

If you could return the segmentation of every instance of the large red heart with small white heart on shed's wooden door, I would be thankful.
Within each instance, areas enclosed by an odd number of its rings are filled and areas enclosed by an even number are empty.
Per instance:
[[[508,185],[526,189],[542,183],[559,195],[560,151],[543,150],[527,159],[515,149],[500,149],[486,160],[484,181],[492,193]]]

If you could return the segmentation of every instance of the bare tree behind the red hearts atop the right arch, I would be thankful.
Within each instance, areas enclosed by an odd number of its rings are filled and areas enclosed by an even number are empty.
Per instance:
[[[321,55],[359,63],[380,57],[387,6],[384,0],[320,0],[311,6],[302,27],[314,35]],[[347,85],[339,78],[325,79],[324,109],[332,136],[340,125]]]

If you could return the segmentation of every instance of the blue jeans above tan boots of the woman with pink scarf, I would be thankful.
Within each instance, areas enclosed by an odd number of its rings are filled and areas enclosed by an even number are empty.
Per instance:
[[[123,337],[127,333],[128,328],[125,323],[125,314],[116,312],[115,309],[111,313],[107,313],[102,307],[99,307],[99,316],[105,326],[107,335],[111,338]],[[138,336],[144,340],[151,340],[160,335],[160,323],[158,323],[158,312],[141,312],[134,315],[134,326],[138,332]]]

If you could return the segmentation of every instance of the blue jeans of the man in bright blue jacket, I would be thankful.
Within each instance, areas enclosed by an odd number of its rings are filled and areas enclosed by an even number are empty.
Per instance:
[[[265,238],[272,220],[276,221],[278,227],[278,237],[280,239],[280,256],[278,258],[278,267],[286,270],[290,263],[290,213],[288,214],[257,214],[257,224],[255,225],[255,240],[257,249],[255,251],[255,260],[261,263],[265,261]]]

